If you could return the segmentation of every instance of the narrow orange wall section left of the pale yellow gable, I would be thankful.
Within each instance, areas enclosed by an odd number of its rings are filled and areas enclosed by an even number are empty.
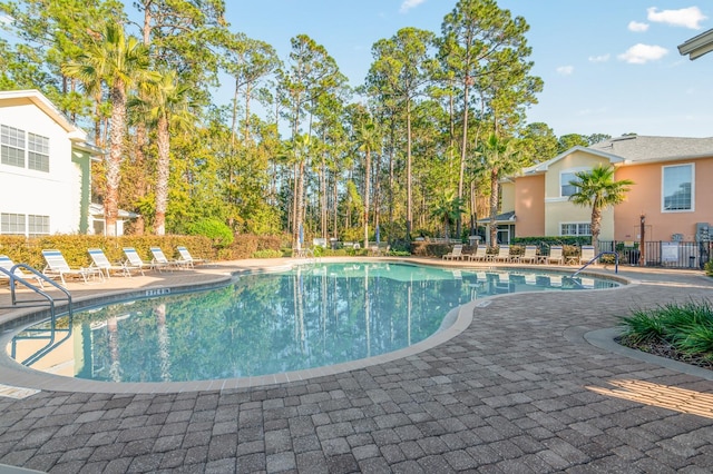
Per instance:
[[[545,235],[545,175],[525,176],[515,187],[516,237]],[[504,209],[508,211],[511,209]]]

